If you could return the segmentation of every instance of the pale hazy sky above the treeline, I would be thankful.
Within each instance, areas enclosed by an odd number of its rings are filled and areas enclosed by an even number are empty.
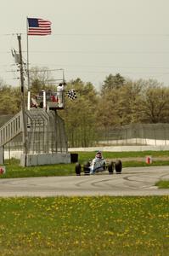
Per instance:
[[[3,1],[0,78],[19,84],[10,49],[21,33],[26,61],[26,17],[35,17],[52,22],[52,35],[29,37],[30,67],[64,68],[66,80],[97,88],[110,73],[169,85],[168,9],[167,0]]]

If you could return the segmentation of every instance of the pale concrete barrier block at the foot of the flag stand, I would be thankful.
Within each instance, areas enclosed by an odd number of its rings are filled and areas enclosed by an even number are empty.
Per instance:
[[[70,164],[69,153],[55,154],[21,154],[20,166],[45,166],[54,164]]]

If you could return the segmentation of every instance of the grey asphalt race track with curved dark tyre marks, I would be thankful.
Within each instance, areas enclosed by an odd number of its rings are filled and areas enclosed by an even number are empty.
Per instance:
[[[124,168],[121,174],[91,176],[1,178],[0,197],[83,195],[169,195],[155,182],[169,179],[169,166]]]

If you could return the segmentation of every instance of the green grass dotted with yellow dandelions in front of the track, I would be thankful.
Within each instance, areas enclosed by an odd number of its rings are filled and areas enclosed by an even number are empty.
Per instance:
[[[168,255],[169,196],[0,198],[0,255]]]

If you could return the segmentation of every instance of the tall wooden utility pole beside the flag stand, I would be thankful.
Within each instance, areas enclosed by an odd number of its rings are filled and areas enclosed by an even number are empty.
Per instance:
[[[28,154],[28,134],[27,134],[27,125],[25,117],[25,90],[24,90],[24,68],[22,61],[22,49],[21,49],[21,35],[17,35],[19,43],[19,55],[20,55],[20,84],[21,84],[21,108],[22,108],[22,119],[23,119],[23,146],[25,154],[25,166],[27,162]]]

